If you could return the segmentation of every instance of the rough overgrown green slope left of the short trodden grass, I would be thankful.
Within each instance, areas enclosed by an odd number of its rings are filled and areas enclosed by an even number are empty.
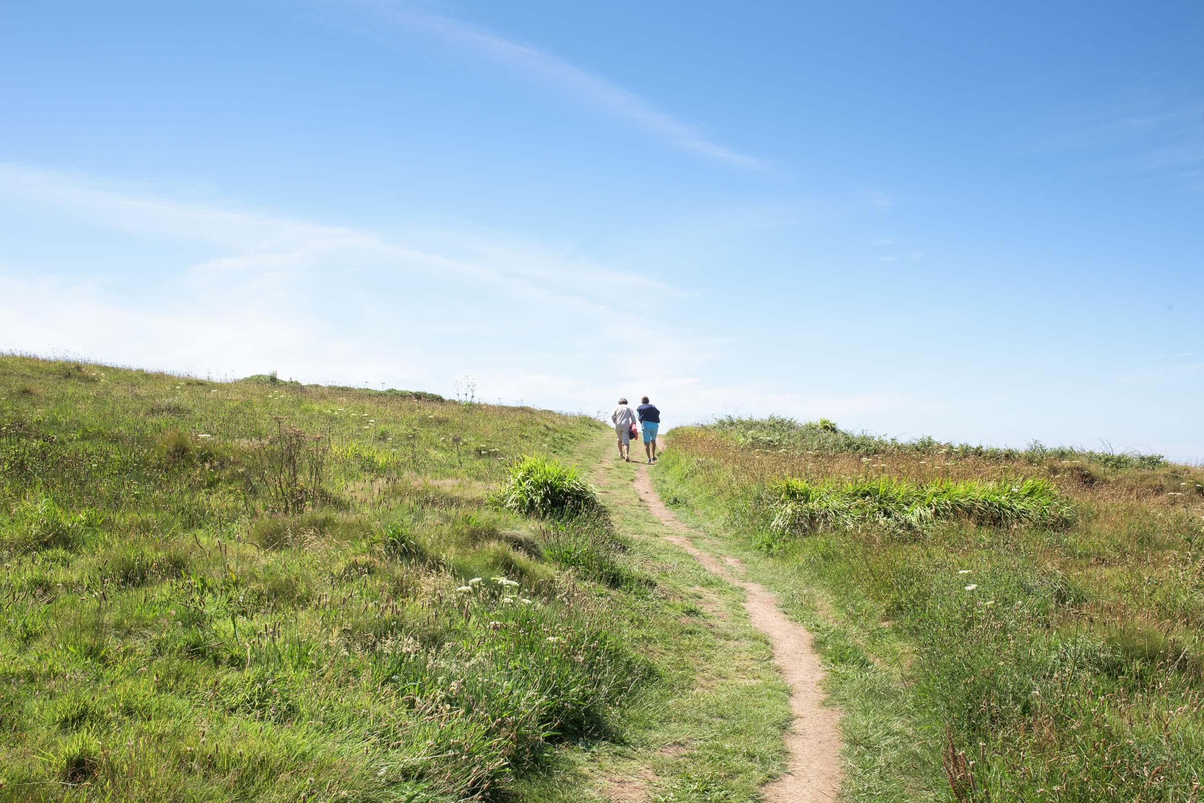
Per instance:
[[[598,432],[0,357],[0,801],[498,799],[606,737],[633,571],[486,504]]]

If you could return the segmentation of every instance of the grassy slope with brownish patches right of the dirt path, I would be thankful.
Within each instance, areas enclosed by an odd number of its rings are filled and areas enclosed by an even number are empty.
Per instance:
[[[856,801],[1204,796],[1204,471],[727,420],[663,498],[819,635]]]

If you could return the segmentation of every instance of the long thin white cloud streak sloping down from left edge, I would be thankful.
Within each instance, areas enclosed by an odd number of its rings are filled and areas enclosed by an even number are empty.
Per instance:
[[[409,231],[401,237],[366,228],[318,224],[230,204],[178,201],[142,188],[23,165],[0,163],[0,201],[40,206],[59,219],[89,220],[131,234],[205,242],[223,254],[191,266],[197,282],[228,281],[232,274],[321,269],[343,264],[386,264],[433,276],[502,285],[508,292],[613,316],[601,280],[621,280],[667,297],[684,293],[653,276],[597,266],[501,234]]]

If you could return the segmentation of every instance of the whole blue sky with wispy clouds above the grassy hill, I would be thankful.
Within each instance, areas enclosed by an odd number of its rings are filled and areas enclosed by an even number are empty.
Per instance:
[[[5,4],[0,347],[1204,459],[1204,5],[905,6]]]

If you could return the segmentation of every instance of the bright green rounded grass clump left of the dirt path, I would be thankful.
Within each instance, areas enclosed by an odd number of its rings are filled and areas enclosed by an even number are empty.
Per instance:
[[[597,492],[576,466],[537,454],[510,464],[506,481],[490,501],[500,510],[539,518],[603,514]]]

